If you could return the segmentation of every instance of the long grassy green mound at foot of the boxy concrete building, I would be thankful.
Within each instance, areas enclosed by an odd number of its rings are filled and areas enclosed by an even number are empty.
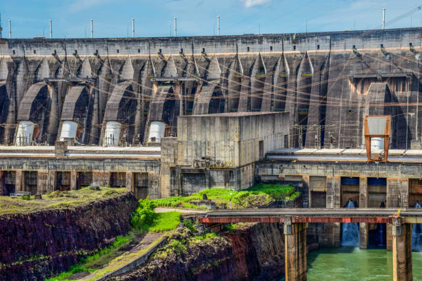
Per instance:
[[[201,200],[203,194],[214,201],[217,208],[229,209],[257,208],[268,205],[272,200],[292,200],[299,196],[290,185],[268,185],[259,183],[242,191],[231,189],[205,189],[191,196],[177,196],[153,200],[158,207],[205,209],[190,204],[190,200]]]

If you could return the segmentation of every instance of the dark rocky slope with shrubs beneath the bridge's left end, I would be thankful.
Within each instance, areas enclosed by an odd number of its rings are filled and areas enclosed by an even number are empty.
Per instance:
[[[277,224],[245,224],[205,240],[179,228],[146,264],[109,281],[273,280],[284,273],[283,241]]]

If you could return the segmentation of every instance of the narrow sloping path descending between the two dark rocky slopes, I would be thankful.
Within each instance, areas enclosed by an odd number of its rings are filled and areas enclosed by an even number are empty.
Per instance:
[[[97,281],[97,280],[105,280],[106,277],[110,278],[111,275],[116,271],[119,271],[119,274],[129,271],[131,269],[131,264],[134,264],[134,267],[139,265],[139,259],[143,256],[146,256],[147,253],[150,253],[150,249],[153,249],[157,245],[159,245],[163,240],[166,238],[165,233],[156,233],[156,232],[148,232],[141,240],[139,240],[138,244],[134,246],[130,251],[126,251],[122,253],[121,256],[114,258],[108,264],[104,264],[101,269],[97,269],[96,271],[90,273],[90,275],[86,275],[83,278],[77,279],[81,281]],[[148,257],[145,257],[146,260]]]

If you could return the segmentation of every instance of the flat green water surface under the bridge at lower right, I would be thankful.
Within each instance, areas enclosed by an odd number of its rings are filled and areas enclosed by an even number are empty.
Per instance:
[[[413,253],[413,280],[422,281],[422,253]],[[308,253],[308,281],[391,281],[392,252],[354,247]]]

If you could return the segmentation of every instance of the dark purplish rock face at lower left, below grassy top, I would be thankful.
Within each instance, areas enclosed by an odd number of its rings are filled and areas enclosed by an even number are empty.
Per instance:
[[[0,216],[0,280],[44,280],[130,230],[131,193],[75,207]]]

